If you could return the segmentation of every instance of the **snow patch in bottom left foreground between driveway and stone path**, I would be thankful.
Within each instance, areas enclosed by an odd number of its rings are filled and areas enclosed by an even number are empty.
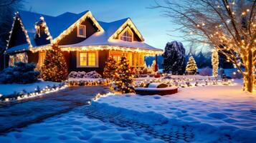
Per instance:
[[[128,127],[116,127],[98,119],[88,119],[82,113],[69,112],[39,124],[32,124],[18,132],[9,132],[0,136],[0,142],[160,143],[163,141],[146,136],[138,137]]]

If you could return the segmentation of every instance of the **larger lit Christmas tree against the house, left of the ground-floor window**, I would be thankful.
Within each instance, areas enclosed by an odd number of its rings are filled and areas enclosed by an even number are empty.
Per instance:
[[[67,64],[62,51],[57,44],[46,52],[42,66],[42,79],[44,81],[63,82],[67,78]]]

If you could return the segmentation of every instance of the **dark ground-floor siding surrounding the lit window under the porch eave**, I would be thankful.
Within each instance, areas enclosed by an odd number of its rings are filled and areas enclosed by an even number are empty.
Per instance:
[[[108,50],[98,51],[98,67],[77,67],[77,51],[70,51],[70,71],[97,71],[99,74],[103,74],[108,54]]]

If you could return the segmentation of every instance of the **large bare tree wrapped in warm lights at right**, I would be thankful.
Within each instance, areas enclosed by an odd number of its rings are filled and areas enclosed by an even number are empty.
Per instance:
[[[255,0],[166,0],[156,3],[179,24],[187,40],[216,47],[242,73],[244,90],[253,91],[256,64]],[[177,30],[178,30],[177,29]],[[243,69],[244,67],[244,69]]]

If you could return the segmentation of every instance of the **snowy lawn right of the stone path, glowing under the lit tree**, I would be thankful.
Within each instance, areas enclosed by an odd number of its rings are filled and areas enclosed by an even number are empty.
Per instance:
[[[93,106],[130,114],[145,122],[187,124],[199,134],[212,134],[213,140],[227,136],[237,142],[252,142],[256,139],[256,96],[242,92],[242,81],[235,82],[234,86],[182,88],[178,94],[163,97],[114,95],[98,99]]]

